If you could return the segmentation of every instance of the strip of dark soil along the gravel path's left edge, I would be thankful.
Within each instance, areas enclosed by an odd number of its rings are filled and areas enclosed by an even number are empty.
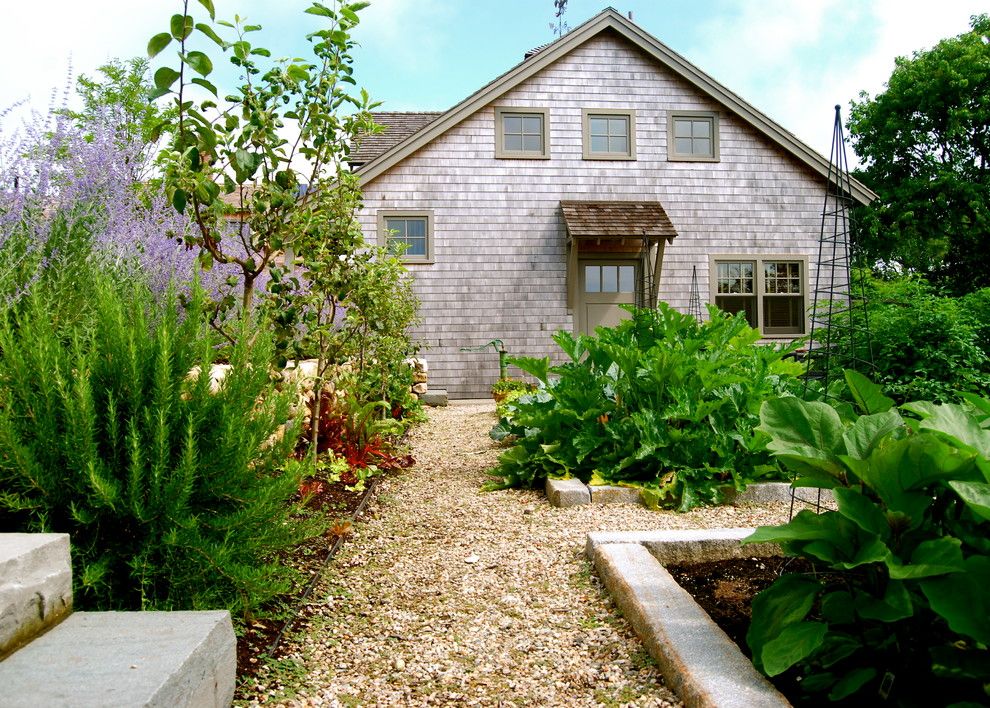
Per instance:
[[[261,667],[259,655],[269,654],[276,638],[280,637],[283,630],[288,630],[287,622],[294,623],[304,616],[305,613],[297,615],[303,594],[310,581],[323,570],[330,555],[336,551],[338,541],[346,540],[350,535],[351,519],[362,506],[365,497],[374,493],[375,484],[369,483],[367,488],[359,491],[348,488],[346,481],[314,481],[304,483],[304,487],[303,493],[309,495],[307,509],[325,516],[331,521],[331,526],[322,536],[312,538],[283,555],[281,562],[300,571],[301,579],[291,592],[264,608],[261,617],[247,622],[239,630],[238,680],[252,676]],[[276,649],[272,657],[278,656]]]

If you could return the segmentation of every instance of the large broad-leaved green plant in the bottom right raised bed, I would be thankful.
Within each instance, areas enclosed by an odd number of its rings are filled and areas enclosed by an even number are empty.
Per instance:
[[[753,662],[833,701],[986,705],[990,400],[898,409],[865,377],[846,379],[855,410],[798,398],[761,410],[774,456],[837,508],[747,539],[819,571],[755,598]]]

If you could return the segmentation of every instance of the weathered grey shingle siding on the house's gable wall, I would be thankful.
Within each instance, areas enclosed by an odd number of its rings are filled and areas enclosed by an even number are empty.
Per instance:
[[[496,106],[548,109],[550,159],[496,159]],[[635,111],[635,160],[582,159],[582,109],[594,108]],[[668,160],[670,111],[718,112],[718,162]],[[778,143],[603,31],[372,172],[360,221],[374,240],[380,210],[432,210],[435,262],[410,266],[422,301],[415,336],[432,387],[483,397],[498,377],[497,357],[462,347],[497,338],[512,355],[556,356],[550,335],[575,329],[561,201],[659,202],[677,235],[666,247],[659,298],[682,311],[693,267],[702,302],[710,300],[712,254],[807,256],[813,275],[824,180]]]

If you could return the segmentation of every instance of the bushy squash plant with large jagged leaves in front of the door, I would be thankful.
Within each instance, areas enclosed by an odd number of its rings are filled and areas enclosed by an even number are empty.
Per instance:
[[[493,430],[515,439],[493,486],[573,476],[689,509],[779,472],[755,427],[761,403],[802,371],[786,358],[794,347],[758,345],[756,330],[716,309],[702,323],[664,304],[629,312],[593,337],[555,334],[564,364],[512,360],[541,386]]]

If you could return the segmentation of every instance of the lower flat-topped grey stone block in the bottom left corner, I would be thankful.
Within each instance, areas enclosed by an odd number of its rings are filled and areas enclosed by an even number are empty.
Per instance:
[[[3,704],[220,708],[237,640],[223,612],[76,612],[0,662]]]

